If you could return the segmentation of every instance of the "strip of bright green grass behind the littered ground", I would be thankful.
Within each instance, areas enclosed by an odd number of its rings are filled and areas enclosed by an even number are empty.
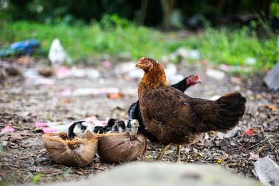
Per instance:
[[[110,54],[112,59],[117,59],[123,52],[129,53],[133,60],[142,56],[160,60],[179,47],[199,49],[202,59],[216,65],[249,65],[245,59],[253,57],[257,63],[252,66],[255,70],[261,70],[272,68],[277,61],[276,36],[259,39],[255,31],[246,26],[233,31],[207,26],[199,35],[177,39],[173,37],[175,33],[161,33],[144,26],[135,26],[116,15],[107,16],[100,23],[78,26],[63,23],[5,23],[0,28],[0,45],[7,46],[18,40],[36,38],[41,43],[36,55],[47,56],[52,40],[59,38],[75,63],[88,59],[99,61],[103,54]]]

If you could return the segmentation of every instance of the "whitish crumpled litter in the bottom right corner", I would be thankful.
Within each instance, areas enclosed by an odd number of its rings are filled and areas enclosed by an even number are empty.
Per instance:
[[[279,166],[269,156],[255,162],[254,173],[264,185],[279,185]]]

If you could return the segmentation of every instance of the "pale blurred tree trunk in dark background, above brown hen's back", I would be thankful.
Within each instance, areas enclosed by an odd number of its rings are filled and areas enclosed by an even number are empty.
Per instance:
[[[163,28],[165,30],[169,30],[171,28],[170,18],[174,8],[174,1],[175,0],[161,0],[163,10]]]

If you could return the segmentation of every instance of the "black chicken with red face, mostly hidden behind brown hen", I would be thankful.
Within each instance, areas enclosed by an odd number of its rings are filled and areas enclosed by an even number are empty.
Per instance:
[[[202,83],[202,81],[199,79],[199,75],[190,75],[182,79],[177,84],[173,84],[172,87],[177,88],[180,91],[184,92],[190,86],[195,86],[195,84],[199,84],[199,83]],[[131,104],[130,108],[128,109],[128,115],[130,120],[137,119],[137,121],[139,121],[140,127],[138,129],[141,134],[144,134],[144,136],[150,139],[151,141],[158,141],[158,139],[154,137],[149,132],[149,130],[146,130],[146,125],[142,120],[142,114],[140,114],[139,100]]]

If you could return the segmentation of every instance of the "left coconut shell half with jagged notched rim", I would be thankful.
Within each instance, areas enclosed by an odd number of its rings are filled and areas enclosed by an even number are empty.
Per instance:
[[[86,132],[82,138],[68,140],[67,132],[43,134],[43,145],[50,156],[66,166],[86,166],[95,156],[98,139]]]

